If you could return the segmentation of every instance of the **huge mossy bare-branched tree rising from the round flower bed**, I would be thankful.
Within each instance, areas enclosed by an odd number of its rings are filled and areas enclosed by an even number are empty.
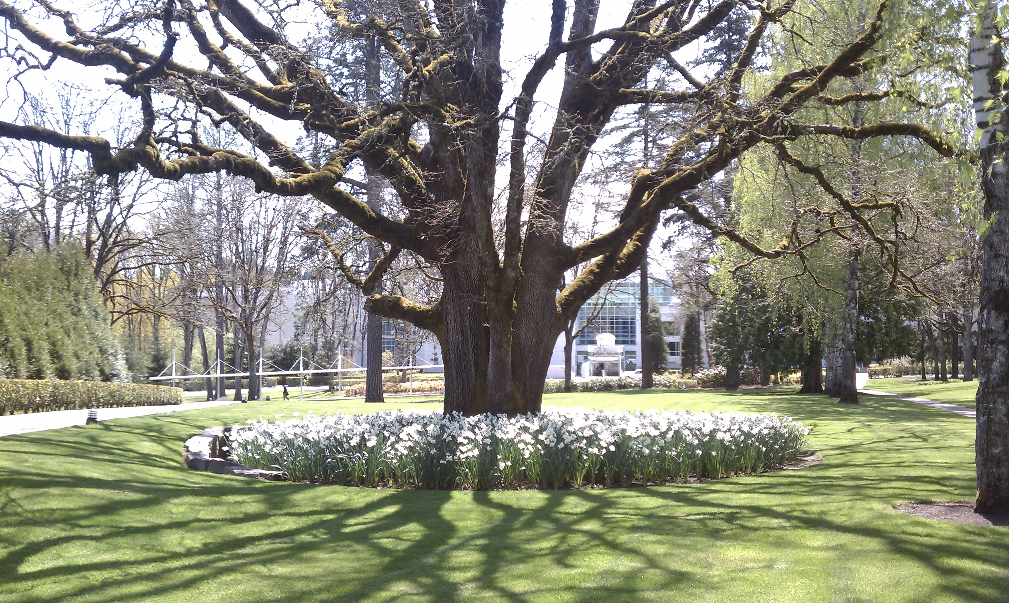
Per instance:
[[[807,105],[876,102],[893,92],[830,96],[833,81],[888,59],[879,47],[881,32],[888,19],[899,17],[888,12],[886,0],[828,61],[785,74],[756,99],[745,98],[744,81],[765,36],[794,10],[794,0],[636,0],[624,23],[607,29],[596,26],[598,0],[570,6],[553,0],[538,55],[525,73],[512,74],[521,82],[514,98],[504,98],[503,0],[401,0],[381,14],[351,10],[340,0],[301,6],[341,35],[372,40],[382,59],[398,67],[400,94],[377,104],[344,95],[354,83],[341,82],[319,65],[317,53],[305,51],[275,3],[167,0],[87,27],[46,0],[16,4],[0,1],[0,18],[13,38],[6,45],[12,70],[73,62],[94,68],[96,82],[114,71],[118,76],[105,82],[132,99],[143,126],[120,147],[11,122],[0,122],[0,136],[86,150],[96,171],[113,179],[138,168],[171,179],[224,170],[251,179],[259,191],[312,196],[384,242],[388,254],[423,258],[444,279],[436,304],[372,295],[367,308],[435,333],[446,365],[446,411],[538,410],[558,334],[607,281],[640,266],[664,212],[681,212],[758,256],[801,252],[808,242],[792,234],[798,221],[816,219],[813,214],[797,214],[781,242],[768,248],[690,201],[690,191],[749,149],[774,145],[813,174],[816,166],[789,154],[789,143],[912,136],[952,153],[913,123],[853,127],[799,117],[809,115],[800,111]],[[730,69],[705,78],[703,70],[691,73],[676,59],[689,44],[725,30],[719,25],[738,8],[751,20]],[[66,34],[50,34],[36,18],[59,19]],[[556,118],[539,164],[528,166],[538,89],[555,67],[563,69],[563,84],[547,102],[556,107]],[[677,74],[680,87],[644,87],[651,70]],[[664,141],[662,160],[629,183],[613,228],[566,244],[568,204],[593,145],[605,144],[600,132],[614,112],[643,103],[680,105],[687,117],[668,130],[675,135]],[[205,144],[192,133],[198,131],[194,121],[227,124],[256,152]],[[282,130],[292,127],[326,137],[333,152],[320,163],[307,160],[283,140]],[[380,213],[349,192],[342,180],[357,162],[389,183],[399,213]],[[831,189],[826,182],[824,188]],[[872,203],[842,199],[853,219]],[[388,263],[379,259],[376,269]],[[565,270],[579,264],[586,267],[558,290]]]

